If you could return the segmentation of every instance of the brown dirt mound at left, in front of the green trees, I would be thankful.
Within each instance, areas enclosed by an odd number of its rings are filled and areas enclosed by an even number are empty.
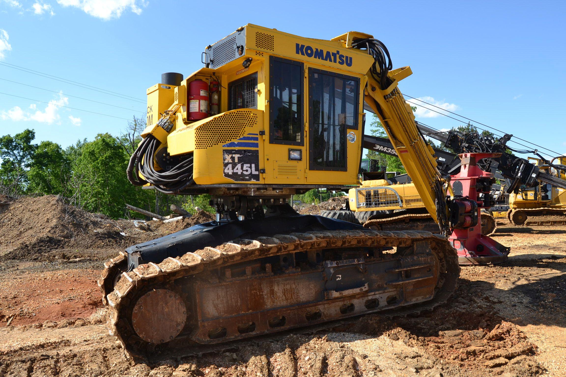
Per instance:
[[[66,250],[57,258],[68,259],[86,256],[85,250],[100,250],[93,255],[104,259],[108,253],[211,220],[212,215],[201,211],[173,223],[136,226],[129,220],[101,219],[54,195],[22,197],[0,206],[0,258],[51,260],[49,252]]]

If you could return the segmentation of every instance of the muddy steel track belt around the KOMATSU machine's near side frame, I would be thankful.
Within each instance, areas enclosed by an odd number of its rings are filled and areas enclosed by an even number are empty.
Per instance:
[[[98,285],[105,296],[105,301],[108,302],[110,306],[110,333],[118,337],[128,356],[143,358],[147,356],[148,352],[155,352],[156,348],[160,350],[185,349],[187,346],[194,346],[196,342],[198,342],[198,339],[195,341],[194,337],[196,330],[192,331],[191,328],[185,328],[179,336],[179,339],[161,345],[148,344],[147,341],[140,339],[132,326],[131,315],[136,304],[136,297],[139,297],[141,293],[150,288],[169,289],[173,286],[175,281],[180,281],[178,279],[194,279],[195,276],[201,276],[224,266],[250,262],[259,258],[288,254],[289,252],[312,252],[312,250],[336,248],[352,250],[355,248],[388,249],[399,246],[413,246],[415,242],[419,241],[426,243],[427,248],[430,249],[431,256],[437,261],[436,265],[438,268],[435,268],[438,270],[438,275],[435,275],[434,296],[426,302],[419,302],[419,304],[402,302],[400,305],[413,305],[400,306],[399,309],[395,309],[393,312],[388,311],[388,315],[391,317],[410,314],[417,315],[422,311],[432,310],[434,307],[448,300],[448,297],[451,296],[456,289],[457,278],[460,271],[456,250],[452,248],[449,242],[443,236],[423,231],[327,231],[257,237],[255,240],[235,240],[226,242],[223,245],[217,246],[217,248],[205,248],[195,253],[186,253],[181,257],[167,258],[158,264],[148,263],[141,265],[130,272],[121,272],[121,270],[126,268],[126,255],[121,253],[118,257],[105,263],[105,268],[102,272],[101,279],[98,281]],[[410,265],[410,261],[410,257],[398,257],[400,279],[392,284],[402,284],[402,287],[408,288],[413,287],[415,283],[411,282],[411,279],[403,281],[405,276],[404,271],[415,268],[410,266],[406,268],[403,267],[404,265]],[[363,294],[360,293],[358,296],[363,296]],[[319,302],[318,305],[324,308],[327,307],[327,305],[331,305],[336,300],[325,300]],[[389,309],[389,307],[385,306],[373,310],[366,310],[366,313],[385,309]],[[189,314],[187,314],[187,316]],[[356,312],[351,315],[359,314],[362,313]],[[351,315],[346,314],[343,317],[347,318]],[[335,319],[337,318],[330,320]],[[319,323],[324,321],[325,319],[323,317],[323,319],[319,320]],[[314,324],[316,324],[316,322]],[[187,319],[185,327],[190,326],[191,320]],[[298,326],[304,325],[301,324]],[[272,332],[281,330],[288,330],[288,327],[274,329]],[[255,336],[255,334],[251,333],[245,336]],[[232,339],[234,338],[228,338],[226,340]]]

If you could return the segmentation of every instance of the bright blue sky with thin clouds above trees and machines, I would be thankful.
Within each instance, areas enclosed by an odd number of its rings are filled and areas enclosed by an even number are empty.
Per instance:
[[[373,34],[394,68],[413,69],[403,93],[566,152],[563,1],[0,0],[0,92],[29,98],[0,94],[0,135],[33,128],[37,141],[63,147],[99,132],[117,135],[125,119],[144,115],[145,89],[162,72],[197,70],[204,46],[246,23],[312,38]],[[425,109],[417,115],[438,129],[459,124]]]

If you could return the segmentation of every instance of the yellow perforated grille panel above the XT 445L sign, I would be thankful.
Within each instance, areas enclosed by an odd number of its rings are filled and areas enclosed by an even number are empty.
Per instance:
[[[249,132],[248,127],[256,124],[258,124],[258,115],[252,111],[238,111],[217,116],[196,128],[195,148],[210,148],[237,139]]]

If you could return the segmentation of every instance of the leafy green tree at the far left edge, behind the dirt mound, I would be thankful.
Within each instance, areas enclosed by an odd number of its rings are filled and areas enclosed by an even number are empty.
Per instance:
[[[33,129],[0,138],[0,189],[6,194],[17,195],[27,188],[27,171],[37,148],[37,144],[32,144],[33,139]]]

